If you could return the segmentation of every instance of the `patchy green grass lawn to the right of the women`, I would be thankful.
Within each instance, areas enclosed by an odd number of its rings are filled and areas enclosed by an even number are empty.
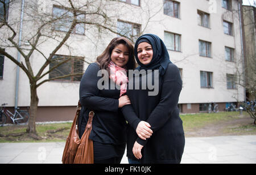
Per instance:
[[[256,125],[246,112],[181,114],[185,136],[256,135]]]

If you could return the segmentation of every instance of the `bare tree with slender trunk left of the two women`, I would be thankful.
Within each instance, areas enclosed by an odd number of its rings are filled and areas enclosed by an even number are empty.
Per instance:
[[[65,79],[68,77],[79,78],[81,71],[60,72],[61,66],[68,67],[68,62],[72,60],[82,60],[90,63],[90,60],[72,57],[71,35],[84,35],[85,28],[91,30],[93,39],[88,41],[97,45],[104,33],[110,33],[115,36],[125,36],[131,41],[135,41],[146,28],[151,18],[159,11],[148,14],[150,10],[141,10],[141,15],[146,18],[139,19],[143,23],[143,28],[137,32],[123,31],[123,28],[117,29],[117,18],[122,16],[118,12],[120,7],[126,8],[130,14],[137,12],[133,6],[127,3],[114,0],[63,0],[63,1],[25,1],[23,25],[26,25],[26,31],[23,31],[22,39],[18,39],[20,20],[19,14],[8,19],[8,10],[17,12],[20,9],[22,0],[0,0],[3,7],[2,18],[0,19],[0,54],[9,58],[22,69],[30,83],[30,119],[28,121],[27,133],[36,134],[36,114],[38,111],[38,87],[42,84],[55,79]],[[47,10],[48,8],[53,10]],[[14,11],[15,10],[15,11]],[[20,11],[19,11],[20,12]],[[138,15],[137,15],[138,16]],[[140,26],[141,27],[141,26]],[[127,33],[128,32],[128,33]],[[129,34],[129,35],[128,35]],[[79,37],[77,37],[79,38]],[[94,43],[95,42],[95,43]],[[44,50],[46,44],[51,43],[51,50],[47,54]],[[61,50],[69,50],[69,57],[56,57]],[[17,61],[13,51],[18,51],[22,56],[21,61]],[[32,57],[36,55],[38,59],[44,59],[43,64],[33,67]],[[52,65],[52,66],[49,66]],[[77,69],[81,69],[77,68]],[[54,75],[57,73],[57,75]],[[51,74],[51,76],[47,76]]]

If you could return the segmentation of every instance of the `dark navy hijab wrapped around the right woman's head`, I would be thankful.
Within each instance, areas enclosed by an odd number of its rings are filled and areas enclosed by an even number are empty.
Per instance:
[[[147,65],[143,65],[138,58],[138,45],[141,42],[147,42],[151,44],[153,49],[153,57],[150,63]],[[159,69],[160,76],[164,75],[164,72],[166,72],[167,66],[169,63],[172,63],[170,61],[170,57],[168,54],[168,51],[166,49],[166,45],[164,45],[164,42],[156,35],[153,34],[144,34],[141,37],[138,38],[138,40],[135,42],[134,46],[134,53],[135,58],[139,66],[137,67],[138,70],[155,70]]]

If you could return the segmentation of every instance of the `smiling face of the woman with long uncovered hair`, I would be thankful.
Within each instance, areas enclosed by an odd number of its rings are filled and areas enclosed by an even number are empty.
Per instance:
[[[115,46],[111,53],[111,61],[119,67],[123,67],[127,64],[129,60],[129,50],[126,45],[119,44]]]

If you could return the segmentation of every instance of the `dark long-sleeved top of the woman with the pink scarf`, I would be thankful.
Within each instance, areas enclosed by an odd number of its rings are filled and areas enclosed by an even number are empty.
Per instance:
[[[80,103],[82,105],[80,120],[84,117],[88,121],[90,110],[94,110],[92,131],[89,138],[106,144],[126,143],[126,121],[121,109],[118,108],[120,90],[98,89],[97,83],[101,76],[97,76],[100,67],[92,63],[86,69],[80,83]],[[109,80],[110,83],[113,83]]]

